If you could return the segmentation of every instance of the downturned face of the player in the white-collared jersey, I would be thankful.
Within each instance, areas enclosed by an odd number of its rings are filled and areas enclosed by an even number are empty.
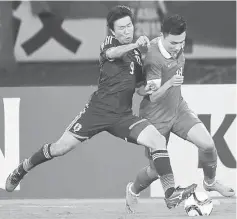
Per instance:
[[[184,48],[185,38],[186,32],[183,32],[180,35],[168,34],[166,36],[162,36],[162,43],[167,52],[169,52],[172,57],[176,58],[179,51]]]

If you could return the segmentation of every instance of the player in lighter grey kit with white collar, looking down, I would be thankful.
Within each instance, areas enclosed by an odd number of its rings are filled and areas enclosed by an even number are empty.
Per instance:
[[[185,38],[186,21],[183,17],[166,17],[161,36],[151,41],[144,60],[147,84],[138,91],[144,96],[140,104],[140,116],[147,118],[165,136],[167,144],[172,132],[196,145],[204,172],[204,189],[217,191],[226,197],[233,196],[233,189],[216,181],[217,152],[214,141],[181,94]],[[149,149],[146,149],[146,155],[150,159],[150,165],[140,170],[135,182],[127,186],[129,203],[132,200],[136,203],[139,193],[158,178],[159,173],[156,173]],[[170,186],[174,185],[168,184],[163,188],[167,190]]]

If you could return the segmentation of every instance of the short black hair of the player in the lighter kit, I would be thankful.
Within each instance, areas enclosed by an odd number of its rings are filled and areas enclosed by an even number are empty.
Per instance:
[[[170,15],[164,18],[161,25],[161,32],[164,35],[180,35],[187,29],[187,24],[185,19],[178,15]]]

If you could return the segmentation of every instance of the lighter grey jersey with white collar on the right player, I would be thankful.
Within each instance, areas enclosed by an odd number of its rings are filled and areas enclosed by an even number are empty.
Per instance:
[[[161,79],[161,86],[170,80],[175,74],[182,75],[185,58],[180,51],[177,58],[165,57],[163,45],[159,38],[152,41],[151,47],[144,60],[144,74],[146,81]],[[181,86],[170,87],[156,102],[151,102],[149,96],[145,96],[140,105],[140,116],[151,121],[170,121],[177,113],[180,103],[183,101]]]

